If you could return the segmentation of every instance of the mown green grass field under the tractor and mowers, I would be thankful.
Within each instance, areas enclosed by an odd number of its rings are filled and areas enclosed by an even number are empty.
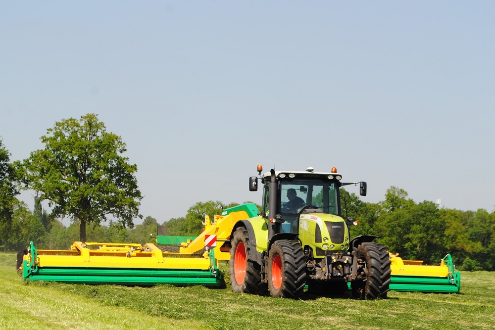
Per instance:
[[[22,283],[14,265],[14,254],[0,253],[2,330],[495,329],[491,272],[462,272],[461,294],[391,291],[375,301],[291,300],[232,293],[229,286]]]

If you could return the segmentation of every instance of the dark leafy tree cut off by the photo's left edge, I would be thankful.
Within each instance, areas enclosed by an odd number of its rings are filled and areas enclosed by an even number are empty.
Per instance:
[[[10,153],[0,139],[0,241],[3,242],[5,251],[11,233],[15,196],[18,193],[17,172],[10,163]]]

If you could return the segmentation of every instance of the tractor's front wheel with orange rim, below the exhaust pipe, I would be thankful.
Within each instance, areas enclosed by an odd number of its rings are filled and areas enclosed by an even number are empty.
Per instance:
[[[272,297],[298,298],[306,280],[304,253],[297,240],[278,240],[268,255],[268,290]]]

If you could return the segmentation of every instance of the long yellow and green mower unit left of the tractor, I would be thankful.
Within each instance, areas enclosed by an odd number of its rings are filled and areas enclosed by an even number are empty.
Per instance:
[[[18,265],[22,278],[85,284],[222,285],[214,251],[205,257],[162,252],[154,244],[75,242],[70,250],[39,250],[30,243]],[[19,267],[20,266],[20,267]]]

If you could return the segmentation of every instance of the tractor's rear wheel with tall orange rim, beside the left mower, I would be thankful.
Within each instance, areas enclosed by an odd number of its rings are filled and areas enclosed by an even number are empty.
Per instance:
[[[261,266],[251,256],[246,228],[236,229],[231,244],[229,273],[232,291],[250,294],[265,293],[266,283],[261,283]]]

